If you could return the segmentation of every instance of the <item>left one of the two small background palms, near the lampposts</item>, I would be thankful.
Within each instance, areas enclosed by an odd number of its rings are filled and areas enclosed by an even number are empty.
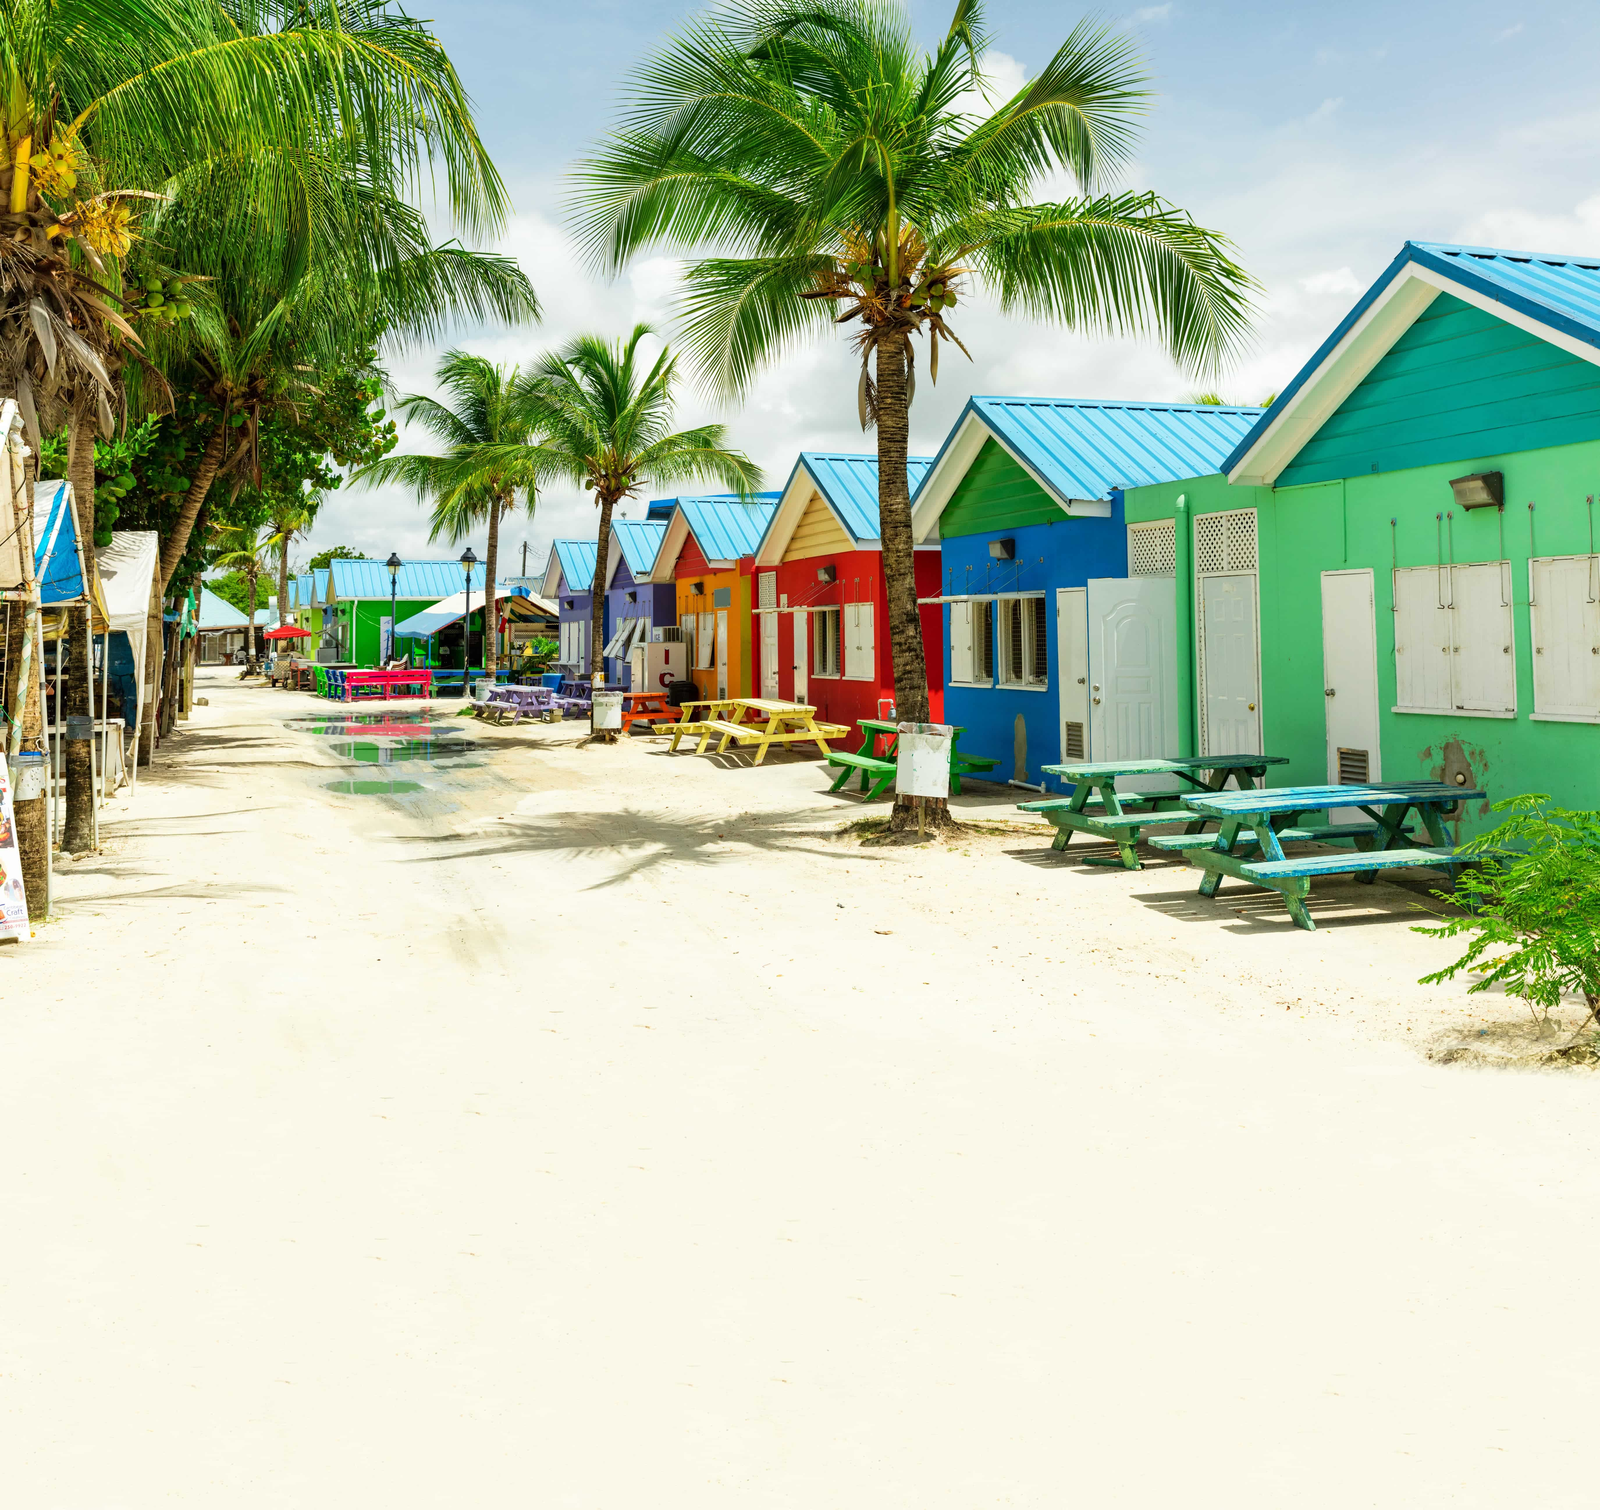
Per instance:
[[[355,473],[354,481],[402,483],[434,505],[430,541],[464,541],[488,525],[483,573],[483,670],[494,675],[499,645],[493,630],[494,582],[499,568],[499,521],[523,496],[533,518],[538,485],[554,461],[536,443],[528,406],[518,392],[518,370],[486,357],[450,350],[434,370],[450,403],[408,393],[395,413],[443,441],[443,456],[384,456]]]

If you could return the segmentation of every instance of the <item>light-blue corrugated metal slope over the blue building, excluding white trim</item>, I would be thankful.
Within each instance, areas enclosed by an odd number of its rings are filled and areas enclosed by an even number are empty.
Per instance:
[[[1077,398],[974,397],[968,408],[1062,501],[1208,477],[1262,414],[1256,406]]]

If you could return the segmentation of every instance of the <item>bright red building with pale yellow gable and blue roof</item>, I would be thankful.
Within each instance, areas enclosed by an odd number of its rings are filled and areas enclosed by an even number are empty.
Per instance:
[[[907,462],[910,488],[933,465]],[[917,552],[917,597],[939,595],[938,549]],[[886,717],[894,704],[878,539],[878,459],[805,451],[755,549],[754,691],[808,702],[827,723]],[[922,609],[930,715],[944,712],[941,609]],[[861,729],[851,731],[859,742]]]

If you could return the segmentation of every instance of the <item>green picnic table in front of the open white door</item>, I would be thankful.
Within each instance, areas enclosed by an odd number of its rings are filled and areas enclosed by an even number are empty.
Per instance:
[[[1267,766],[1282,765],[1288,765],[1286,755],[1178,755],[1171,760],[1091,760],[1045,766],[1051,776],[1072,782],[1072,795],[1018,803],[1018,808],[1043,813],[1056,825],[1059,832],[1051,840],[1051,849],[1066,849],[1074,833],[1086,833],[1117,846],[1117,859],[1085,856],[1090,865],[1141,870],[1134,849],[1141,829],[1194,819],[1184,806],[1189,797],[1221,792],[1229,777],[1240,787],[1253,787],[1267,774]],[[1118,792],[1118,776],[1173,776],[1189,785],[1165,792]],[[1200,829],[1200,821],[1190,821],[1187,832],[1198,833]]]

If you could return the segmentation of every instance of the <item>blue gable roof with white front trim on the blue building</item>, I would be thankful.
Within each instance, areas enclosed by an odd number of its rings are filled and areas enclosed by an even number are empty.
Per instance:
[[[989,440],[1064,513],[1106,518],[1120,488],[1216,472],[1261,413],[1253,405],[973,397],[912,499],[912,536],[936,537],[944,505]]]

